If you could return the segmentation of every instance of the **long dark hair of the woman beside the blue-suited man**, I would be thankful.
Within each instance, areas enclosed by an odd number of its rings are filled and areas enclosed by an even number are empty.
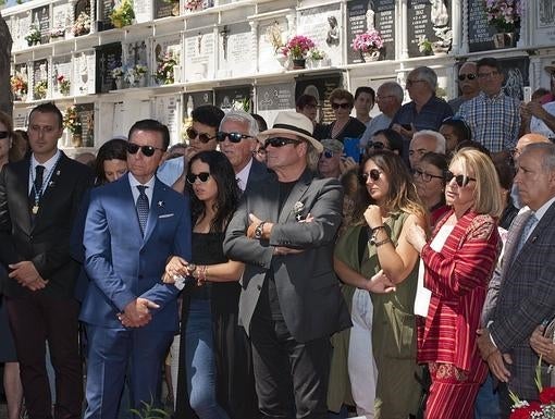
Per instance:
[[[197,160],[208,164],[210,176],[213,177],[218,185],[218,196],[213,208],[215,215],[210,223],[210,231],[223,232],[239,201],[240,189],[237,185],[235,172],[225,155],[220,151],[210,150],[200,151],[190,159],[187,175],[192,174],[190,168]],[[190,196],[190,212],[193,224],[195,224],[206,214],[205,202],[197,198],[193,190],[193,185],[188,182],[185,183],[185,192]]]

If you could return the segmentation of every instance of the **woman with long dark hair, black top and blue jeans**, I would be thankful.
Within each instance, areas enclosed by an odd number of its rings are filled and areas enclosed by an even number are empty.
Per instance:
[[[166,282],[189,278],[183,293],[177,417],[187,399],[200,419],[254,417],[250,352],[237,325],[243,263],[229,260],[222,247],[240,194],[227,158],[220,151],[195,155],[185,193],[194,225],[192,260],[172,258],[165,275]]]

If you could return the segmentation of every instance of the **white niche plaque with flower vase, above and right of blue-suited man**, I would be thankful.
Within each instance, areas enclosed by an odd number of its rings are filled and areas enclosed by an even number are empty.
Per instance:
[[[153,84],[158,86],[181,83],[181,37],[155,38],[152,41]]]

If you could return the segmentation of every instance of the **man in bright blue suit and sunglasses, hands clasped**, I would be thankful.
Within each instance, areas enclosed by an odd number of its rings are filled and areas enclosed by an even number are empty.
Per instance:
[[[128,174],[92,190],[85,223],[87,419],[118,416],[126,373],[132,407],[156,400],[177,329],[178,289],[161,276],[171,255],[190,260],[188,201],[155,175],[170,143],[168,127],[139,121],[128,138]]]

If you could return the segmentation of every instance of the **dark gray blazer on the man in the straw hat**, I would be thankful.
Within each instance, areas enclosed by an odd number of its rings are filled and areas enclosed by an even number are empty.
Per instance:
[[[296,341],[308,342],[350,326],[350,316],[333,270],[333,246],[342,219],[342,187],[336,180],[316,178],[308,170],[291,190],[281,211],[275,174],[249,186],[227,226],[224,241],[227,257],[246,263],[239,322],[247,333],[270,267],[273,268],[285,324]],[[303,202],[303,215],[310,213],[314,220],[296,221],[295,202]],[[249,213],[274,223],[269,241],[246,237]],[[278,256],[273,255],[275,246],[303,251]]]

